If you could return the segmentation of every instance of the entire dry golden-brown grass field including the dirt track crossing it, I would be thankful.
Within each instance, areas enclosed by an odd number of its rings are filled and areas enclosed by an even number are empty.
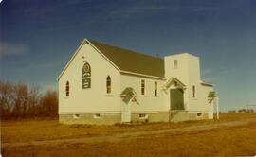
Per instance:
[[[5,121],[1,138],[3,156],[252,156],[256,155],[256,114],[115,126]]]

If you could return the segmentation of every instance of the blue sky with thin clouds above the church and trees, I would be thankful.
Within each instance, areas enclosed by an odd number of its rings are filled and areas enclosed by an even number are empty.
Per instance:
[[[223,110],[256,104],[256,1],[4,0],[1,80],[57,88],[83,38],[160,56],[189,52]]]

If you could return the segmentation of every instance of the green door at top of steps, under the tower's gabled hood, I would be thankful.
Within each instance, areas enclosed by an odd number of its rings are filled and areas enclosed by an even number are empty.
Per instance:
[[[184,110],[184,97],[182,89],[170,90],[171,110]]]

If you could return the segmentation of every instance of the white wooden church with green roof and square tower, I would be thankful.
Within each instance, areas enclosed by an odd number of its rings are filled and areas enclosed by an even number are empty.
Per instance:
[[[59,121],[115,124],[212,119],[217,97],[199,58],[153,57],[83,40],[58,78]]]

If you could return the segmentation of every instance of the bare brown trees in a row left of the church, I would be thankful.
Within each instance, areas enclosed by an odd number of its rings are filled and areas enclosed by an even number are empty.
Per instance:
[[[58,93],[25,83],[0,81],[1,119],[58,117]]]

